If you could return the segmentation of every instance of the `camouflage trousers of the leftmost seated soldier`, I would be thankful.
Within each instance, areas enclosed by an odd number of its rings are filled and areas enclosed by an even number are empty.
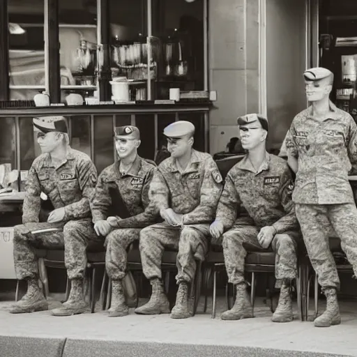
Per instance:
[[[31,231],[60,228],[61,231],[31,234]],[[38,277],[36,248],[63,249],[69,279],[84,278],[86,248],[104,250],[103,239],[98,237],[90,220],[71,220],[63,223],[26,223],[14,227],[13,254],[17,279]]]

